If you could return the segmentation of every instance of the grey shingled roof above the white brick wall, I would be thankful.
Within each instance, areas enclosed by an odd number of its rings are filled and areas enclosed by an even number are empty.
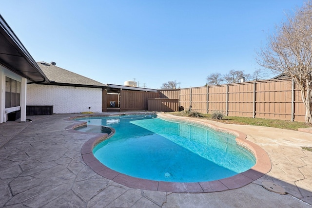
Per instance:
[[[52,85],[65,85],[65,86],[87,86],[95,88],[107,87],[98,81],[90,79],[85,76],[78,75],[66,69],[60,68],[53,64],[40,61],[37,62],[42,72],[48,77]],[[51,62],[53,63],[53,62]]]

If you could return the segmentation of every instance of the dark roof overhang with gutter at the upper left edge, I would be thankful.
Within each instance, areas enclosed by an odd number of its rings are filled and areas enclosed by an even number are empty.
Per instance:
[[[50,82],[1,15],[0,64],[32,82]]]

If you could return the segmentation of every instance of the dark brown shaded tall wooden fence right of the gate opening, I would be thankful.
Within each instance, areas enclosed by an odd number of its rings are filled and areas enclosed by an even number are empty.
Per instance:
[[[142,91],[120,91],[120,111],[147,110],[148,99],[158,98],[159,94]]]

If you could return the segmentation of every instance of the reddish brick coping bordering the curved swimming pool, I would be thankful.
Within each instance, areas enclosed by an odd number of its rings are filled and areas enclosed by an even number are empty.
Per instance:
[[[112,114],[112,115],[121,115],[120,114]],[[136,114],[136,113],[134,113]],[[93,115],[82,115],[82,116],[75,116],[70,118],[69,120],[73,121],[72,119],[78,117],[88,117],[88,116],[103,116],[102,114],[93,114]],[[109,115],[105,115],[109,116]],[[107,133],[89,133],[89,132],[78,132],[74,130],[80,126],[86,125],[86,122],[79,122],[77,124],[70,125],[65,129],[70,132],[75,133],[88,133],[94,134],[94,137],[89,139],[85,142],[81,148],[81,155],[82,159],[86,165],[88,165],[92,170],[94,170],[99,175],[112,180],[118,184],[127,186],[129,188],[136,188],[136,189],[144,189],[144,190],[152,190],[152,191],[165,191],[165,192],[175,192],[175,193],[207,193],[207,192],[217,192],[217,191],[224,191],[230,189],[238,189],[244,187],[254,180],[262,177],[266,173],[268,173],[271,168],[271,160],[269,155],[266,151],[264,151],[261,147],[254,144],[251,141],[247,140],[247,135],[243,132],[239,132],[233,129],[228,128],[221,128],[214,124],[208,123],[208,120],[190,118],[190,117],[181,117],[181,116],[174,116],[171,114],[165,113],[157,113],[157,117],[169,120],[179,120],[179,121],[187,121],[203,126],[210,127],[215,131],[220,132],[229,132],[236,136],[236,142],[238,145],[242,146],[248,151],[251,151],[255,158],[256,164],[249,170],[245,172],[238,173],[232,177],[219,179],[215,181],[209,182],[196,182],[196,183],[179,183],[179,182],[164,182],[164,181],[153,181],[147,179],[141,179],[132,177],[129,175],[125,175],[123,173],[117,172],[112,170],[102,163],[98,161],[98,159],[93,155],[93,148],[103,140],[108,139],[114,133],[111,134]]]

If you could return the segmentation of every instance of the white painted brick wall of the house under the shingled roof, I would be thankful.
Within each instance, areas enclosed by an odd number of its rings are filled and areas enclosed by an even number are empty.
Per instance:
[[[27,105],[53,105],[53,113],[100,113],[102,89],[29,84]]]

